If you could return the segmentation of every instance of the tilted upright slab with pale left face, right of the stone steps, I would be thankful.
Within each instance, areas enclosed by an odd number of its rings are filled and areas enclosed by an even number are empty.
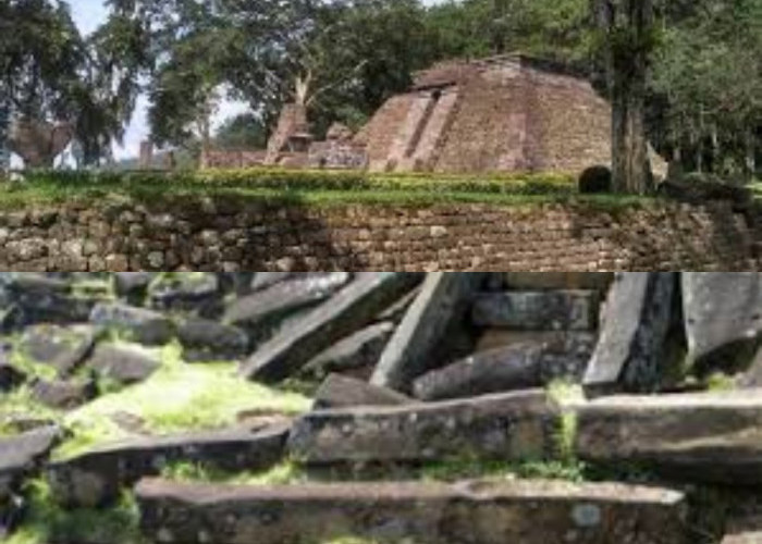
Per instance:
[[[609,294],[601,337],[585,375],[590,393],[651,392],[666,370],[677,276],[622,272]]]

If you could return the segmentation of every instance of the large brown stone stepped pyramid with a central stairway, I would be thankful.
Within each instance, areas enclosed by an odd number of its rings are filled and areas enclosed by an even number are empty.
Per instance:
[[[546,61],[447,61],[417,74],[355,140],[371,171],[576,173],[611,163],[611,107]]]

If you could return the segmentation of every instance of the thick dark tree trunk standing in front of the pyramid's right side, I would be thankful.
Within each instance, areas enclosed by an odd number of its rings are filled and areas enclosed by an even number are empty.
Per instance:
[[[652,0],[597,0],[595,7],[606,35],[614,190],[643,195],[653,186],[644,120]]]

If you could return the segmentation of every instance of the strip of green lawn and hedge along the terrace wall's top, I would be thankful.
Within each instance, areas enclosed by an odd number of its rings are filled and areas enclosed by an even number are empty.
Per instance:
[[[182,197],[230,197],[307,206],[346,203],[432,206],[493,203],[532,206],[579,201],[597,207],[631,206],[639,197],[579,196],[568,174],[378,174],[348,171],[250,169],[174,173],[33,172],[0,190],[0,207],[72,200],[130,198],[157,202]]]

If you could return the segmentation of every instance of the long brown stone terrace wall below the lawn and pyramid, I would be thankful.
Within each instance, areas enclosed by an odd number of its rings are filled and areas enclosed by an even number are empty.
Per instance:
[[[67,203],[0,212],[0,270],[761,270],[752,232],[725,205]]]

